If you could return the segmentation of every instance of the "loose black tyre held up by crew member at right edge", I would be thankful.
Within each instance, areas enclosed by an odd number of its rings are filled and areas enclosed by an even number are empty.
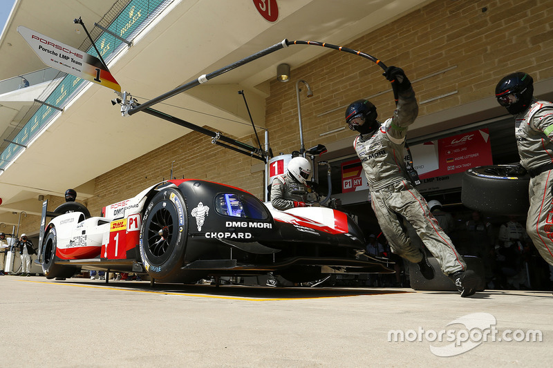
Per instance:
[[[526,215],[530,176],[507,175],[514,165],[469,168],[462,177],[461,202],[491,215]]]

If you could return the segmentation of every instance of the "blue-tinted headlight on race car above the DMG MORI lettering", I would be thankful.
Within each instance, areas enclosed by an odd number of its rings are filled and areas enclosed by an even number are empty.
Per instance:
[[[236,193],[223,193],[215,197],[215,209],[225,216],[266,220],[269,215],[265,206],[254,198]]]

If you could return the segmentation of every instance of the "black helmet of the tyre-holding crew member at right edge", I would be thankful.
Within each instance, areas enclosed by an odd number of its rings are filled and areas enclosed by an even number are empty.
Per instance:
[[[514,72],[499,81],[496,99],[510,114],[522,113],[532,102],[534,79],[525,72]]]

